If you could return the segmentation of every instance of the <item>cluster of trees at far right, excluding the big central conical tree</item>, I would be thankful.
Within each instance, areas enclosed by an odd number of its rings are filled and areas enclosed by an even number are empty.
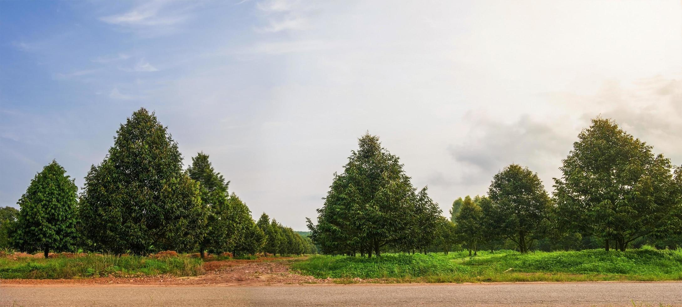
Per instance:
[[[488,196],[453,203],[459,242],[474,252],[514,242],[535,248],[610,250],[630,244],[682,246],[682,168],[610,119],[593,119],[563,160],[550,197],[537,174],[517,164],[496,174]]]

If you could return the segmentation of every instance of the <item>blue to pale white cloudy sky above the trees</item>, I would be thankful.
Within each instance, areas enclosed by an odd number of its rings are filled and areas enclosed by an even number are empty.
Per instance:
[[[597,116],[682,164],[682,2],[0,1],[0,206],[140,107],[254,218],[306,230],[365,132],[447,216]]]

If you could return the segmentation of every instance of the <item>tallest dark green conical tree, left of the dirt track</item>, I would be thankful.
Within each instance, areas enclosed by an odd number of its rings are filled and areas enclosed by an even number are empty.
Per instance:
[[[104,161],[91,167],[80,211],[94,250],[194,250],[206,231],[198,184],[183,173],[177,143],[144,108],[121,124]]]

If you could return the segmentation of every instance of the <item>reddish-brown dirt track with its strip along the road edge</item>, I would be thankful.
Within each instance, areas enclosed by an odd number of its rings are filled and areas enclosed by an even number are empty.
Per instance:
[[[267,286],[274,284],[326,283],[331,280],[301,276],[289,272],[289,265],[301,258],[263,257],[258,260],[223,260],[204,263],[206,274],[191,277],[150,276],[140,278],[83,278],[83,279],[8,279],[0,280],[0,287],[9,285],[94,285],[129,284],[158,286]]]

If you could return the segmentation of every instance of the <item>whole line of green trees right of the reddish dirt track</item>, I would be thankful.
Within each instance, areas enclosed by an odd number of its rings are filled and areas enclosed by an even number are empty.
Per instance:
[[[682,167],[651,149],[597,117],[563,160],[552,196],[537,173],[511,164],[494,175],[487,196],[454,201],[447,220],[426,188],[415,192],[398,157],[366,134],[308,228],[322,252],[369,257],[382,248],[447,253],[463,246],[470,254],[481,247],[625,250],[642,242],[677,248]]]

